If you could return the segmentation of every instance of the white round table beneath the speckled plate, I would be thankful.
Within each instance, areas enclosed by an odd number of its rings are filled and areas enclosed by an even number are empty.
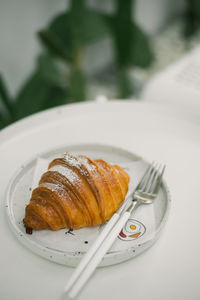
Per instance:
[[[0,132],[0,298],[61,299],[73,268],[35,255],[16,239],[4,198],[10,179],[25,161],[80,143],[123,147],[149,161],[166,163],[172,204],[157,242],[134,259],[97,269],[79,299],[200,299],[200,124],[137,101],[63,106]]]

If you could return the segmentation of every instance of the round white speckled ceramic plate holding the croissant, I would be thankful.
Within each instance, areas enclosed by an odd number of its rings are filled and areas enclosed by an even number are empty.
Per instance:
[[[67,146],[44,153],[41,157],[50,161],[62,155],[66,150],[75,155],[87,155],[92,159],[103,158],[110,163],[122,166],[130,175],[129,192],[133,191],[148,165],[135,154],[105,145]],[[23,164],[23,168],[20,168],[9,184],[5,207],[11,228],[18,239],[33,252],[51,261],[75,266],[97,238],[103,225],[74,231],[70,229],[61,229],[56,232],[42,230],[33,231],[32,235],[26,234],[22,220],[25,206],[30,199],[36,162],[35,158]],[[163,184],[154,203],[143,206],[139,210],[139,215],[136,212],[129,219],[113,247],[104,257],[101,266],[125,261],[150,247],[165,223],[169,201],[168,190]]]

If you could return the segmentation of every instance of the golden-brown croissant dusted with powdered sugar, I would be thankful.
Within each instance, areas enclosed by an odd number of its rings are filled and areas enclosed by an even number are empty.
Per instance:
[[[32,192],[26,229],[78,229],[103,224],[125,199],[129,175],[103,159],[65,153],[54,159]]]

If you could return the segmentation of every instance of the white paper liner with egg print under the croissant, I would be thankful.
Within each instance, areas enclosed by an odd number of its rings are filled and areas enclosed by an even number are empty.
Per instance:
[[[38,185],[41,175],[47,171],[48,164],[48,160],[43,158],[37,159],[33,176],[33,187]],[[142,160],[131,163],[119,163],[119,165],[130,175],[128,196],[138,184],[147,165]],[[58,231],[41,230],[33,231],[33,234],[35,240],[49,248],[67,252],[82,252],[88,250],[103,227],[104,225],[73,231],[69,229],[61,229]],[[155,215],[153,205],[143,205],[132,214],[110,251],[120,251],[134,247],[140,242],[150,240],[154,235]]]

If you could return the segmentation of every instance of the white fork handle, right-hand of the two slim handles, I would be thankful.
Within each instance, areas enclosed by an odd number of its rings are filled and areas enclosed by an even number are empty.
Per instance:
[[[88,265],[84,269],[84,271],[81,273],[77,281],[74,283],[71,291],[68,293],[67,299],[74,299],[83,285],[87,282],[87,280],[90,278],[96,267],[101,262],[102,258],[106,254],[106,252],[109,250],[109,248],[114,243],[116,237],[120,233],[121,229],[123,228],[126,221],[129,219],[130,214],[132,210],[134,209],[136,205],[136,202],[133,201],[131,206],[127,209],[127,211],[119,218],[113,229],[110,231],[110,233],[105,238],[104,242],[101,244],[99,249],[96,251],[95,255],[92,257],[92,259],[89,261]]]

